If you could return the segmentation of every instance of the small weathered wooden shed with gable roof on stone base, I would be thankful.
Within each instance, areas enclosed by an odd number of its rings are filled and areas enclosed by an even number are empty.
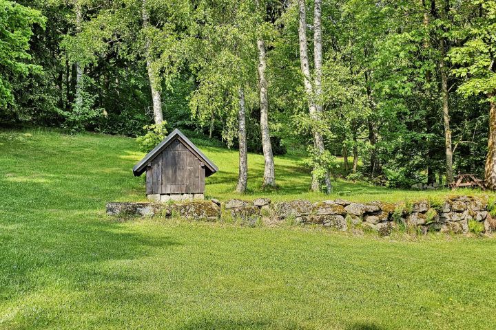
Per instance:
[[[205,177],[217,166],[175,129],[133,168],[138,177],[146,171],[146,194],[153,201],[203,199]]]

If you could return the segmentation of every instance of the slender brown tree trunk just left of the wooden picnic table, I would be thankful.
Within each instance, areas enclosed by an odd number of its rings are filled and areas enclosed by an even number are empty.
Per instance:
[[[440,12],[444,13],[445,8],[440,8]],[[442,14],[444,17],[444,14]],[[445,40],[440,36],[440,74],[441,74],[441,96],[442,96],[442,113],[444,122],[444,144],[446,146],[446,183],[453,182],[453,149],[451,147],[451,129],[449,117],[449,91],[448,91],[448,74],[446,74],[446,65],[444,57],[446,57]]]

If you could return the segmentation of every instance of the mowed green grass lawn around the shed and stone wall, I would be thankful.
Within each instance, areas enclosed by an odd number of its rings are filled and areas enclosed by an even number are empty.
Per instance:
[[[204,151],[208,194],[234,197],[235,153]],[[143,199],[141,156],[123,137],[0,133],[0,329],[496,329],[494,239],[121,223],[105,203]],[[324,197],[297,159],[276,166],[276,199]]]

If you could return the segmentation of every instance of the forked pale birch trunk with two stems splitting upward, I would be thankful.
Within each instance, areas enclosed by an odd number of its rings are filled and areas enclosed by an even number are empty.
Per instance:
[[[309,65],[309,58],[308,58],[308,45],[307,45],[307,8],[305,7],[305,1],[304,0],[298,0],[298,8],[299,8],[299,14],[300,14],[300,20],[299,20],[299,25],[298,25],[298,37],[299,37],[299,43],[300,43],[300,65],[301,65],[301,70],[303,74],[303,83],[304,83],[304,88],[305,92],[307,94],[308,98],[308,104],[309,104],[309,113],[310,113],[310,118],[314,120],[315,122],[318,122],[320,120],[320,111],[322,111],[322,107],[318,108],[316,106],[316,96],[313,91],[313,86],[311,84],[311,76],[310,76],[310,65]],[[316,73],[318,72],[319,74],[316,74],[316,81],[318,80],[320,84],[320,74],[321,68],[322,68],[322,35],[320,34],[321,32],[321,27],[320,27],[320,0],[315,1],[315,12],[316,12],[316,17],[314,19],[314,39],[316,40],[316,46],[315,46],[315,51],[317,51],[318,54],[315,54],[315,57],[318,61],[316,61]],[[317,23],[316,23],[316,22]],[[319,51],[320,50],[320,51]],[[317,63],[318,62],[318,63]],[[319,67],[319,70],[317,68]],[[318,87],[320,89],[320,85]],[[312,129],[312,134],[313,134],[313,144],[317,151],[322,154],[325,150],[324,148],[324,139],[322,137],[322,134],[316,129]],[[331,186],[331,180],[329,179],[329,173],[327,173],[324,177],[324,182],[326,184],[326,190],[327,193],[330,193],[332,190]],[[311,183],[311,189],[313,191],[318,191],[319,190],[319,182],[318,182],[318,177],[316,177],[316,173],[313,173],[312,175],[312,183]]]

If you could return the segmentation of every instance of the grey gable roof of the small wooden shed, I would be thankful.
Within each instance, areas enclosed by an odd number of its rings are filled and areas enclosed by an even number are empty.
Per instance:
[[[218,167],[213,162],[211,162],[211,160],[208,159],[207,156],[205,156],[200,151],[200,149],[198,149],[193,144],[193,142],[191,142],[181,131],[179,131],[178,129],[174,129],[174,131],[172,131],[172,133],[167,135],[167,137],[165,137],[165,139],[161,143],[159,143],[155,148],[153,148],[152,151],[147,153],[147,155],[145,157],[143,157],[143,159],[141,159],[138,162],[138,164],[134,165],[134,167],[133,167],[134,176],[138,177],[138,176],[142,175],[143,172],[145,172],[145,170],[146,170],[147,164],[149,164],[149,162],[152,162],[152,160],[157,155],[162,153],[162,151],[164,151],[164,149],[167,148],[167,146],[169,146],[169,144],[171,144],[174,140],[180,140],[180,142],[183,142],[183,144],[185,144],[185,146],[187,146],[187,148],[189,148],[189,151],[192,151],[192,153],[194,153],[196,155],[196,157],[198,157],[198,159],[200,159],[201,161],[203,161],[205,163],[205,167],[206,167],[205,168],[205,176],[206,177],[208,177],[208,176],[210,176],[210,175],[212,175],[218,171]]]

